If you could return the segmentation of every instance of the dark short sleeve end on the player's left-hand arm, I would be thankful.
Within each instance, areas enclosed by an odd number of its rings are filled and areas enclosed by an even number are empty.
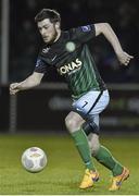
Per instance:
[[[47,72],[47,68],[48,68],[47,64],[42,61],[42,59],[40,59],[38,57],[34,71],[38,72],[38,73],[46,73]]]

